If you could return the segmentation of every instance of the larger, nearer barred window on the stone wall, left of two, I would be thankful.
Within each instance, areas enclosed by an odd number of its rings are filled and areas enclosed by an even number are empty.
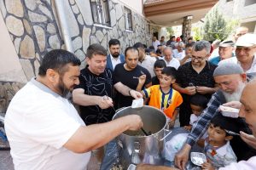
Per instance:
[[[90,0],[90,8],[94,23],[110,26],[108,0]]]

